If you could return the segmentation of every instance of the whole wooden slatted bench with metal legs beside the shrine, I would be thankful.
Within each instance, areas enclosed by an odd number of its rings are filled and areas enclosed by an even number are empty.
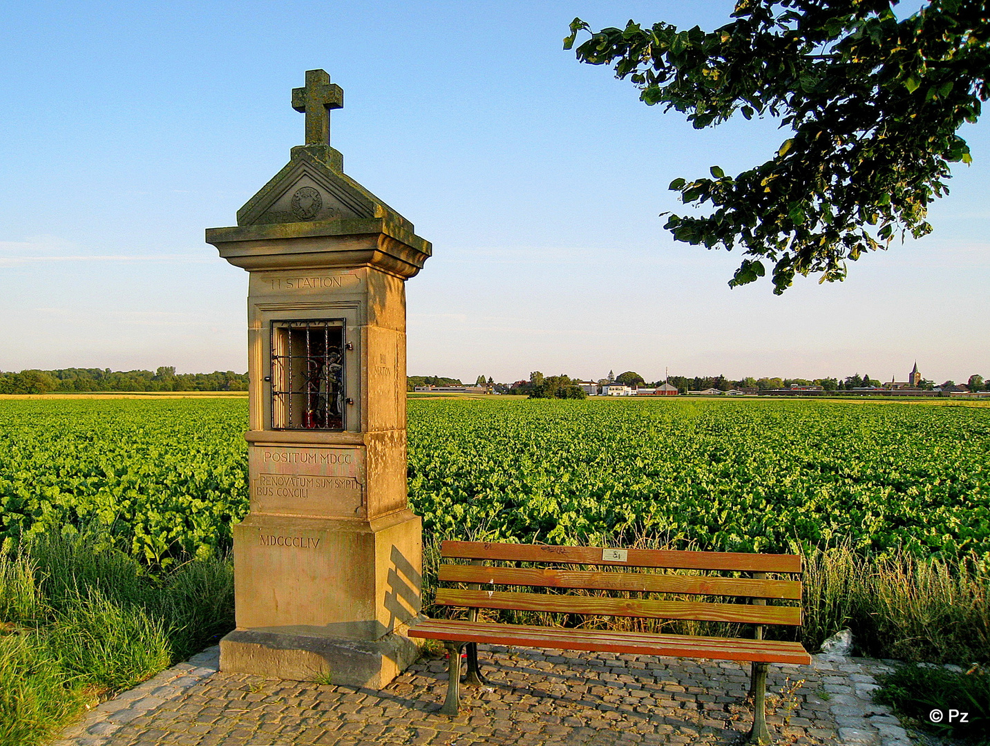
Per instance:
[[[469,618],[427,619],[409,630],[412,637],[445,641],[449,651],[449,679],[441,712],[456,715],[460,683],[460,651],[467,645],[466,684],[484,682],[478,668],[477,643],[520,645],[561,650],[607,651],[640,655],[748,661],[752,664],[754,715],[753,743],[769,743],[764,712],[768,663],[809,664],[811,656],[798,642],[763,639],[765,624],[801,624],[800,606],[768,606],[771,601],[800,601],[799,580],[767,580],[767,573],[800,575],[796,554],[741,552],[683,552],[651,549],[610,549],[544,544],[445,541],[444,559],[466,559],[470,564],[440,566],[442,583],[467,584],[467,590],[440,588],[435,603],[469,609]],[[525,562],[542,565],[609,566],[608,570],[568,567],[486,566],[483,562]],[[617,572],[611,568],[687,569],[742,572],[749,578],[715,575],[675,575],[656,572]],[[546,589],[543,593],[493,590],[497,586]],[[637,594],[676,594],[724,597],[749,603],[657,601],[568,594],[567,590],[619,591]],[[695,619],[754,625],[752,639],[692,637],[679,634],[571,629],[559,626],[503,624],[478,621],[479,608],[545,611],[582,615],[629,616],[657,619]]]

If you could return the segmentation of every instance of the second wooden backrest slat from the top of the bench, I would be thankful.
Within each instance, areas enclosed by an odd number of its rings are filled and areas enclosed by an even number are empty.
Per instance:
[[[554,568],[441,565],[438,580],[446,583],[482,583],[542,588],[580,588],[589,591],[744,596],[752,599],[800,601],[801,582],[749,580],[659,573],[587,572]]]

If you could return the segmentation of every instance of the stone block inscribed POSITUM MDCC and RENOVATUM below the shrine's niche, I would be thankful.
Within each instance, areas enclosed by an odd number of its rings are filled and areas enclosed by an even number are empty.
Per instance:
[[[360,448],[254,446],[251,510],[256,513],[363,517],[364,452]]]

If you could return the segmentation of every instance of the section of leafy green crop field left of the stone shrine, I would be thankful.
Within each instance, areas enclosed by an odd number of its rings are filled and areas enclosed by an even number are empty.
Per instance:
[[[0,401],[0,537],[99,521],[167,567],[247,513],[247,400]]]

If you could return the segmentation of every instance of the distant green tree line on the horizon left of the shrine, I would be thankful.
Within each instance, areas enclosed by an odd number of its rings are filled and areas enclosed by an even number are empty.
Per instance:
[[[173,366],[162,366],[154,372],[110,368],[0,371],[0,394],[59,391],[247,391],[247,373],[176,373]]]

